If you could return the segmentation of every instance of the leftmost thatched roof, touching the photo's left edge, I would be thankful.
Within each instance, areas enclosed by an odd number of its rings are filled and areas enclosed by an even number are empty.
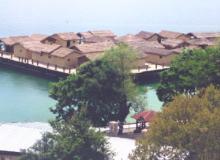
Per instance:
[[[15,45],[16,43],[32,41],[32,39],[28,36],[13,36],[13,37],[1,38],[0,41],[2,41],[6,45],[12,46]]]

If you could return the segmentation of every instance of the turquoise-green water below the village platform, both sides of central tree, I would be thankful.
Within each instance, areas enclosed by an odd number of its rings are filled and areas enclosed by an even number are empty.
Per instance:
[[[0,67],[0,123],[52,119],[49,108],[56,102],[48,96],[49,83],[45,78]],[[138,89],[147,109],[159,111],[162,103],[156,96],[156,85],[139,85]],[[133,122],[133,119],[127,121]]]

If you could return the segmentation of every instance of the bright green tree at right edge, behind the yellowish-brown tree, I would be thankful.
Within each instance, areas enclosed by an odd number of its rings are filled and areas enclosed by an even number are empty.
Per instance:
[[[194,95],[210,84],[220,85],[220,47],[185,50],[161,73],[157,95],[169,102],[175,95]]]

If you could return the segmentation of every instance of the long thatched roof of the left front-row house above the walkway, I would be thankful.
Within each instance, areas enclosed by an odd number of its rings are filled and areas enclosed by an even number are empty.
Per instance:
[[[51,53],[61,47],[60,45],[43,44],[37,41],[28,41],[19,44],[21,44],[25,49],[36,53]]]

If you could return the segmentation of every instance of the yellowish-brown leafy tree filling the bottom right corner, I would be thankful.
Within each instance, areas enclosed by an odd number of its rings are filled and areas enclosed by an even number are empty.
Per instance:
[[[138,140],[130,159],[218,160],[220,90],[209,86],[195,96],[179,95],[166,105]]]

